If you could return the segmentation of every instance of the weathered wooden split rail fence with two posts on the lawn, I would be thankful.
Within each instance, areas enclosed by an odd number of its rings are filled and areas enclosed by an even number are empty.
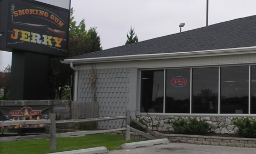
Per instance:
[[[119,117],[70,119],[70,120],[55,120],[55,117],[56,117],[55,114],[50,114],[49,120],[0,121],[0,126],[36,125],[36,124],[49,124],[49,126],[50,126],[49,134],[0,137],[0,142],[32,140],[32,139],[50,139],[50,150],[56,150],[56,137],[82,136],[82,135],[86,135],[86,134],[98,134],[98,133],[107,133],[107,132],[114,132],[114,131],[125,131],[125,140],[126,141],[131,140],[131,133],[130,133],[131,112],[129,110],[126,111],[126,116],[119,116]],[[126,119],[126,127],[125,128],[107,129],[107,130],[99,130],[99,131],[79,131],[79,132],[68,132],[68,133],[56,134],[56,124],[84,123],[84,122],[89,122],[89,121],[97,122],[97,121],[118,120],[118,119]]]

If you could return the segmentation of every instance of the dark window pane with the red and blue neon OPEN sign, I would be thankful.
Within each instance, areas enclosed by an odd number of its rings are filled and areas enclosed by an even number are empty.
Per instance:
[[[166,70],[166,113],[189,113],[190,69]]]

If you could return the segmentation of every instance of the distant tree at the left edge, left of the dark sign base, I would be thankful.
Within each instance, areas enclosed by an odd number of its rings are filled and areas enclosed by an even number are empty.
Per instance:
[[[11,88],[11,66],[4,67],[4,70],[0,72],[0,88],[4,88],[3,100],[10,100],[10,88]]]

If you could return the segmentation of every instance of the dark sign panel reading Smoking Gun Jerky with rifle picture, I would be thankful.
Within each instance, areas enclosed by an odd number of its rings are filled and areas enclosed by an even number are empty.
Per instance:
[[[66,56],[69,12],[37,3],[10,0],[6,46]]]

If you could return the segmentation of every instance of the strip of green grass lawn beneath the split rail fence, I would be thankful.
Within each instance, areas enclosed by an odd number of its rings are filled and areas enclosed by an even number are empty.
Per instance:
[[[131,139],[131,142],[139,140]],[[56,140],[56,150],[50,150],[50,141],[43,140],[25,140],[25,141],[12,141],[0,142],[1,154],[44,154],[61,151],[70,151],[95,147],[106,147],[108,150],[121,149],[125,141],[123,135],[109,135],[109,134],[92,134],[83,137],[59,137]]]

